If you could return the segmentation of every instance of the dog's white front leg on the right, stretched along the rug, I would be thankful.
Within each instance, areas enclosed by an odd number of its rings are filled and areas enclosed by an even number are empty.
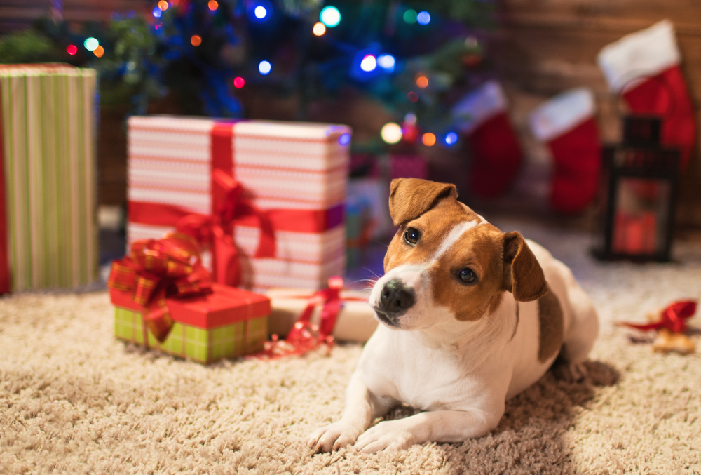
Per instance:
[[[502,399],[503,401],[503,399]],[[484,436],[494,429],[504,414],[504,403],[496,411],[436,410],[404,419],[388,420],[358,437],[355,450],[375,453],[402,450],[417,443],[463,442]]]

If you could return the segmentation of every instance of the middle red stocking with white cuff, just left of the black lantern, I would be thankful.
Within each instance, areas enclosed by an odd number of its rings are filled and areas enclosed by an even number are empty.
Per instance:
[[[601,145],[589,89],[567,91],[531,112],[533,135],[550,148],[555,162],[550,203],[560,213],[580,213],[599,185]]]

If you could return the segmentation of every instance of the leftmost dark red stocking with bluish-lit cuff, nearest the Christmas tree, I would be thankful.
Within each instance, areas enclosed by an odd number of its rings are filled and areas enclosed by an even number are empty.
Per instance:
[[[522,150],[506,110],[506,98],[496,81],[465,96],[453,108],[472,152],[470,190],[494,198],[514,182]]]

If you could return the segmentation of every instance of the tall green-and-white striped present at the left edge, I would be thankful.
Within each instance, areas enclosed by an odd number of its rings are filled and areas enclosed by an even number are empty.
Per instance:
[[[99,279],[96,76],[0,65],[0,293]]]

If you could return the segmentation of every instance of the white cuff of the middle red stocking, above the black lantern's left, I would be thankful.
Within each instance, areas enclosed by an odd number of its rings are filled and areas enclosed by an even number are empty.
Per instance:
[[[533,135],[541,142],[570,131],[594,115],[594,94],[590,89],[571,89],[540,105],[529,115]]]

